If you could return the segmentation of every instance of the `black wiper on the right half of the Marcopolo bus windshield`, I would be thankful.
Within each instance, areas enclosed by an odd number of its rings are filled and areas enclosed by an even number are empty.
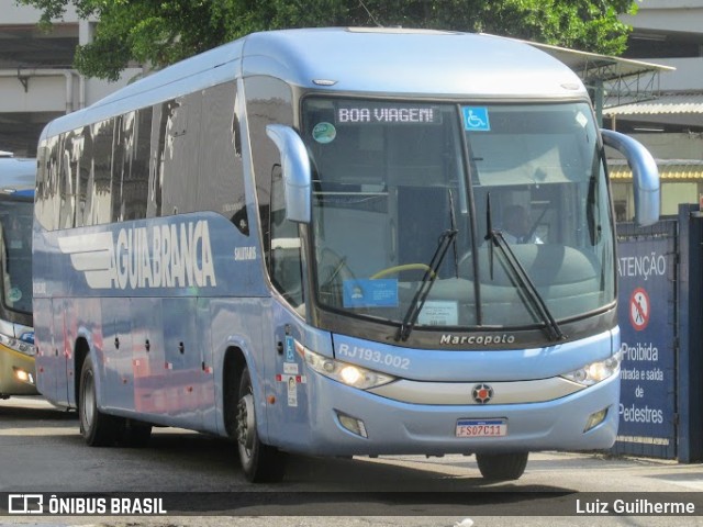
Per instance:
[[[533,309],[539,314],[540,318],[545,323],[547,335],[550,340],[565,340],[567,336],[563,334],[556,318],[549,311],[545,299],[539,294],[539,291],[535,287],[534,282],[527,274],[527,271],[520,262],[515,253],[511,248],[510,244],[503,237],[503,233],[493,228],[493,222],[491,218],[491,194],[486,197],[486,236],[484,239],[489,245],[489,267],[491,273],[491,280],[493,280],[493,248],[498,248],[507,268],[513,272],[520,287],[527,293],[527,300],[532,303]]]

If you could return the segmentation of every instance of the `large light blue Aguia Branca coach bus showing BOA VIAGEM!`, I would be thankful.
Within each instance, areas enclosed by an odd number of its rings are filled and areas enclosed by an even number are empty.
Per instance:
[[[156,72],[41,136],[40,391],[89,445],[231,437],[250,481],[288,452],[475,453],[507,480],[607,448],[604,142],[656,221],[651,157],[523,43],[291,30]]]

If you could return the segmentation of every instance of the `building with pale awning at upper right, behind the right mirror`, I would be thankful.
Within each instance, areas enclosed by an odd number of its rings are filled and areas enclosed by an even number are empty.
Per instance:
[[[636,15],[622,19],[634,27],[625,57],[676,70],[662,72],[644,97],[612,97],[604,125],[649,148],[661,175],[662,214],[677,214],[679,203],[703,200],[703,0],[641,0]],[[611,177],[617,216],[629,220],[632,175],[613,159]]]

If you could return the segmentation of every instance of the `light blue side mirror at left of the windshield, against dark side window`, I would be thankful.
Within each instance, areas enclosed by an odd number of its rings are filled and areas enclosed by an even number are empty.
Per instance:
[[[300,135],[290,126],[269,124],[266,126],[266,135],[276,143],[281,154],[286,218],[310,223],[312,176],[308,149]]]

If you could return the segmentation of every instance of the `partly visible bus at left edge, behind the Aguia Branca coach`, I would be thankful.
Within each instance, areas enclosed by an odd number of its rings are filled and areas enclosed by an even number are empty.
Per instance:
[[[32,217],[36,159],[0,152],[0,399],[36,395]]]

